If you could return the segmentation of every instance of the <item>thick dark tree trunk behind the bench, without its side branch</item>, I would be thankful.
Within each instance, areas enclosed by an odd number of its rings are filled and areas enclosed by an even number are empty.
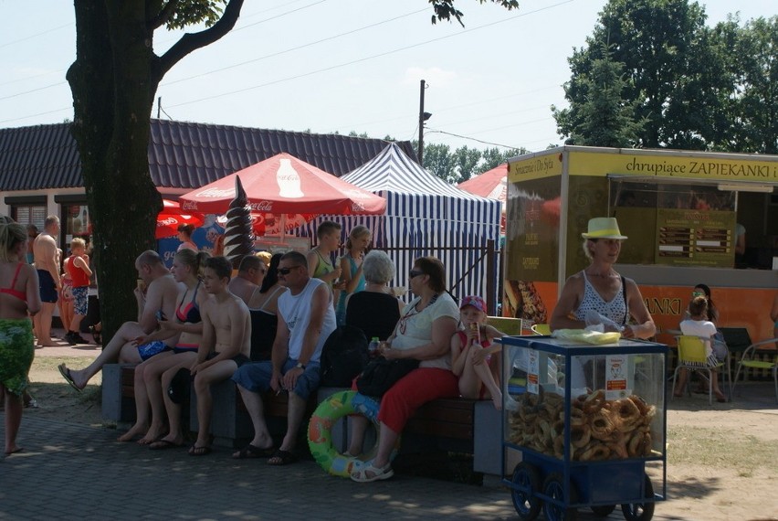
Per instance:
[[[149,175],[152,33],[143,2],[75,0],[76,61],[68,69],[73,135],[92,223],[106,338],[135,320],[134,261],[154,247],[162,208]]]

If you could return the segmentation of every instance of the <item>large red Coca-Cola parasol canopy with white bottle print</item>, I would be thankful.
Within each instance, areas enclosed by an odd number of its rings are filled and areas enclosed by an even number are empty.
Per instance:
[[[235,198],[236,176],[246,190],[252,213],[380,215],[386,209],[384,197],[286,153],[192,190],[181,197],[182,208],[206,214],[226,213]]]

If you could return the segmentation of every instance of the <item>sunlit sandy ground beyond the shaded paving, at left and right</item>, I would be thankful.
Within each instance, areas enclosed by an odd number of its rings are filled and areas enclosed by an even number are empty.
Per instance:
[[[37,349],[30,379],[38,407],[25,414],[115,429],[100,415],[100,377],[77,393],[57,371],[60,361],[86,367],[99,353],[98,346]],[[661,472],[651,474],[658,488]],[[697,394],[668,402],[667,476],[668,501],[657,504],[655,519],[778,520],[773,383],[738,386],[732,403],[714,400],[709,406],[707,397]],[[619,510],[608,518],[621,518]]]

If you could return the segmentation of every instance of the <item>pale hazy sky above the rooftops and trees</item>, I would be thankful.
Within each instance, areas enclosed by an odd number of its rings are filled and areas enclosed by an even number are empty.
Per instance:
[[[711,26],[735,9],[741,23],[775,14],[763,0],[699,3]],[[411,140],[425,80],[426,144],[539,151],[562,144],[551,106],[566,106],[567,58],[605,4],[520,0],[508,11],[457,0],[460,27],[432,25],[426,0],[247,0],[232,32],[167,73],[152,116]],[[0,0],[0,9],[0,128],[72,119],[72,2]],[[182,34],[158,30],[154,51]]]

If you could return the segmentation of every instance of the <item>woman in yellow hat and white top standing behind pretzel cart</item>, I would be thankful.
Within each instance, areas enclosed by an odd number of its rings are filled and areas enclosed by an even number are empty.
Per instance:
[[[602,324],[605,331],[619,331],[626,338],[653,336],[657,326],[637,284],[613,269],[621,252],[621,241],[626,239],[616,219],[592,218],[588,231],[581,235],[584,254],[591,263],[564,283],[553,310],[552,330]]]

